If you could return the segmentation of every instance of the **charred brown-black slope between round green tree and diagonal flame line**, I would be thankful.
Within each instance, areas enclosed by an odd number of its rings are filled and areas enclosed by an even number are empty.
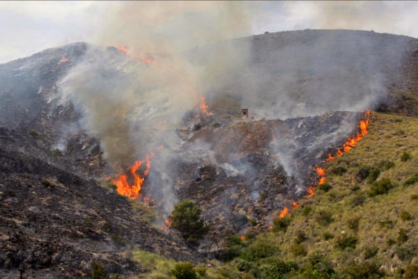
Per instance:
[[[172,167],[179,198],[196,201],[212,228],[201,248],[217,250],[227,235],[268,230],[284,206],[307,195],[309,183],[318,180],[316,164],[357,132],[351,123],[361,118],[362,113],[337,111],[196,132]],[[187,157],[189,150],[199,150],[199,156]]]

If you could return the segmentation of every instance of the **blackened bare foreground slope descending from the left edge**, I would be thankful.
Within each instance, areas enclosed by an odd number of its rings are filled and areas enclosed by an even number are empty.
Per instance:
[[[91,262],[123,277],[143,270],[135,247],[196,261],[181,239],[140,220],[141,209],[94,181],[45,161],[0,149],[0,277],[79,278]]]

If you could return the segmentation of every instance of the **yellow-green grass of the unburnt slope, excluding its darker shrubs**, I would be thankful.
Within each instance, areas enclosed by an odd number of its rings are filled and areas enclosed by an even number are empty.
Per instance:
[[[377,266],[383,264],[385,278],[402,278],[403,269],[411,262],[418,262],[418,200],[411,198],[413,195],[418,196],[418,182],[404,185],[406,180],[418,173],[418,118],[372,113],[370,120],[369,134],[364,136],[355,148],[342,157],[336,157],[335,161],[323,165],[327,183],[332,186],[330,191],[317,189],[316,196],[301,200],[300,208],[291,210],[291,223],[286,232],[266,232],[258,235],[256,239],[238,244],[241,253],[239,257],[258,266],[258,273],[238,271],[238,262],[242,260],[235,259],[225,264],[212,262],[215,267],[207,269],[206,275],[201,278],[254,278],[254,275],[257,278],[265,278],[263,268],[268,268],[277,259],[296,262],[302,267],[299,271],[302,273],[303,266],[316,252],[325,255],[336,271],[342,271],[350,262],[364,262],[366,249],[373,246],[378,247],[378,253],[368,261],[376,263]],[[403,152],[408,152],[411,158],[402,161]],[[389,161],[394,166],[382,166],[382,163]],[[377,181],[384,178],[392,181],[393,186],[389,193],[373,197],[368,195],[371,182],[367,178],[361,180],[358,177],[359,169],[364,166],[380,169]],[[345,168],[346,173],[333,173],[338,167]],[[332,221],[321,225],[323,217],[320,217],[319,212],[330,213]],[[401,212],[408,212],[410,220],[403,220]],[[359,218],[358,230],[350,228],[350,223],[352,224],[355,218]],[[408,240],[404,243],[398,240],[400,229],[405,230],[408,235]],[[302,255],[295,255],[297,234],[300,234],[300,231],[306,234],[307,239],[298,244],[299,248],[302,247]],[[325,233],[332,235],[332,238],[325,240]],[[336,247],[337,239],[343,235],[357,237],[355,248]],[[259,253],[261,250],[266,252],[264,254],[271,255],[265,257],[263,253]],[[256,253],[261,256],[253,257]],[[146,260],[153,256],[143,253],[134,255],[134,260],[147,263],[150,269],[147,278],[173,278],[169,275],[168,268],[173,266],[173,262],[167,261],[162,264],[164,260],[155,255],[154,257],[158,258],[156,263],[167,268],[160,269],[162,272],[154,273],[153,276],[155,269],[159,268],[152,266],[152,260]],[[149,262],[151,264],[148,264]],[[320,278],[306,274],[305,272],[304,276],[298,276],[297,272],[293,272],[286,276]],[[337,276],[343,276],[343,273]]]

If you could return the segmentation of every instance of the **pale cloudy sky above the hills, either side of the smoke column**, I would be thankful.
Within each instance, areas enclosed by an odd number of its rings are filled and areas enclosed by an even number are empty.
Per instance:
[[[240,3],[248,15],[248,35],[265,31],[358,29],[418,38],[418,1]],[[0,63],[70,42],[94,44],[107,17],[121,5],[123,2],[119,1],[0,1]]]

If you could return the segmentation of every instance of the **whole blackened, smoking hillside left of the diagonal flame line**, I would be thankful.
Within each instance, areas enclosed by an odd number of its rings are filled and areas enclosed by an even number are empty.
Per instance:
[[[149,57],[80,42],[0,65],[0,274],[87,277],[98,261],[129,278],[145,267],[127,250],[219,255],[308,195],[364,109],[418,116],[415,38],[290,31]],[[150,164],[139,200],[103,187],[135,160]],[[210,232],[187,246],[144,220],[144,198],[159,221],[193,200]]]

